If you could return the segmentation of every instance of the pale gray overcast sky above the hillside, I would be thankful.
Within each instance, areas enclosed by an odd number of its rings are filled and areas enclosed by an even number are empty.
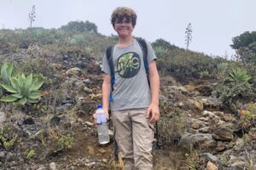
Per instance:
[[[131,7],[138,17],[135,36],[150,42],[163,38],[180,48],[186,47],[184,32],[190,22],[189,49],[212,55],[235,54],[232,37],[256,31],[256,0],[0,0],[1,28],[27,28],[33,4],[33,26],[59,28],[89,20],[106,36],[116,34],[109,20],[113,9]]]

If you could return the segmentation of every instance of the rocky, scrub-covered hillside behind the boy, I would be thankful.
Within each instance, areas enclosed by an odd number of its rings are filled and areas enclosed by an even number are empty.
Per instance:
[[[97,144],[92,120],[102,101],[101,59],[116,40],[90,22],[0,30],[1,84],[18,71],[44,82],[37,103],[1,101],[0,169],[121,169],[113,164],[112,141]],[[163,39],[152,45],[161,114],[154,169],[255,169],[255,65]],[[0,88],[1,99],[9,94]]]

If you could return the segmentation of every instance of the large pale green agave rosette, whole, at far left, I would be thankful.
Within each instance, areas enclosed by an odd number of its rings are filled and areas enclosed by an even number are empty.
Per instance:
[[[0,99],[3,102],[18,102],[21,105],[26,103],[37,103],[41,97],[41,93],[38,90],[42,87],[44,82],[38,81],[38,78],[33,78],[32,74],[27,77],[22,73],[17,77],[10,77],[9,84],[1,84],[1,86],[7,90],[8,96],[4,96]]]

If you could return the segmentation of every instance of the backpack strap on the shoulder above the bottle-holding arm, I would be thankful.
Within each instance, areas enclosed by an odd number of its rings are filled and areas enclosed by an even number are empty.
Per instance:
[[[112,57],[112,52],[113,52],[113,47],[108,47],[106,50],[106,55],[107,55],[107,59],[108,59],[108,65],[109,65],[109,69],[110,69],[110,76],[111,76],[111,90],[110,90],[110,94],[109,94],[109,101],[113,102],[113,84],[114,84],[114,68],[113,68],[113,57]]]

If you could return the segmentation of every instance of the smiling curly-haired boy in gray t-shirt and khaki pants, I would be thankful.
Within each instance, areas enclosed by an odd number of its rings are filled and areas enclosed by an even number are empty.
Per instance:
[[[143,65],[143,50],[132,31],[137,14],[126,7],[119,7],[111,15],[114,31],[119,41],[113,46],[113,68],[115,82],[111,86],[111,71],[106,54],[102,61],[102,105],[108,117],[111,110],[115,139],[126,170],[150,170],[152,164],[152,141],[154,126],[160,116],[160,78],[156,68],[153,48],[148,48],[148,78]],[[149,88],[150,86],[150,88]],[[110,102],[109,95],[113,95]]]

